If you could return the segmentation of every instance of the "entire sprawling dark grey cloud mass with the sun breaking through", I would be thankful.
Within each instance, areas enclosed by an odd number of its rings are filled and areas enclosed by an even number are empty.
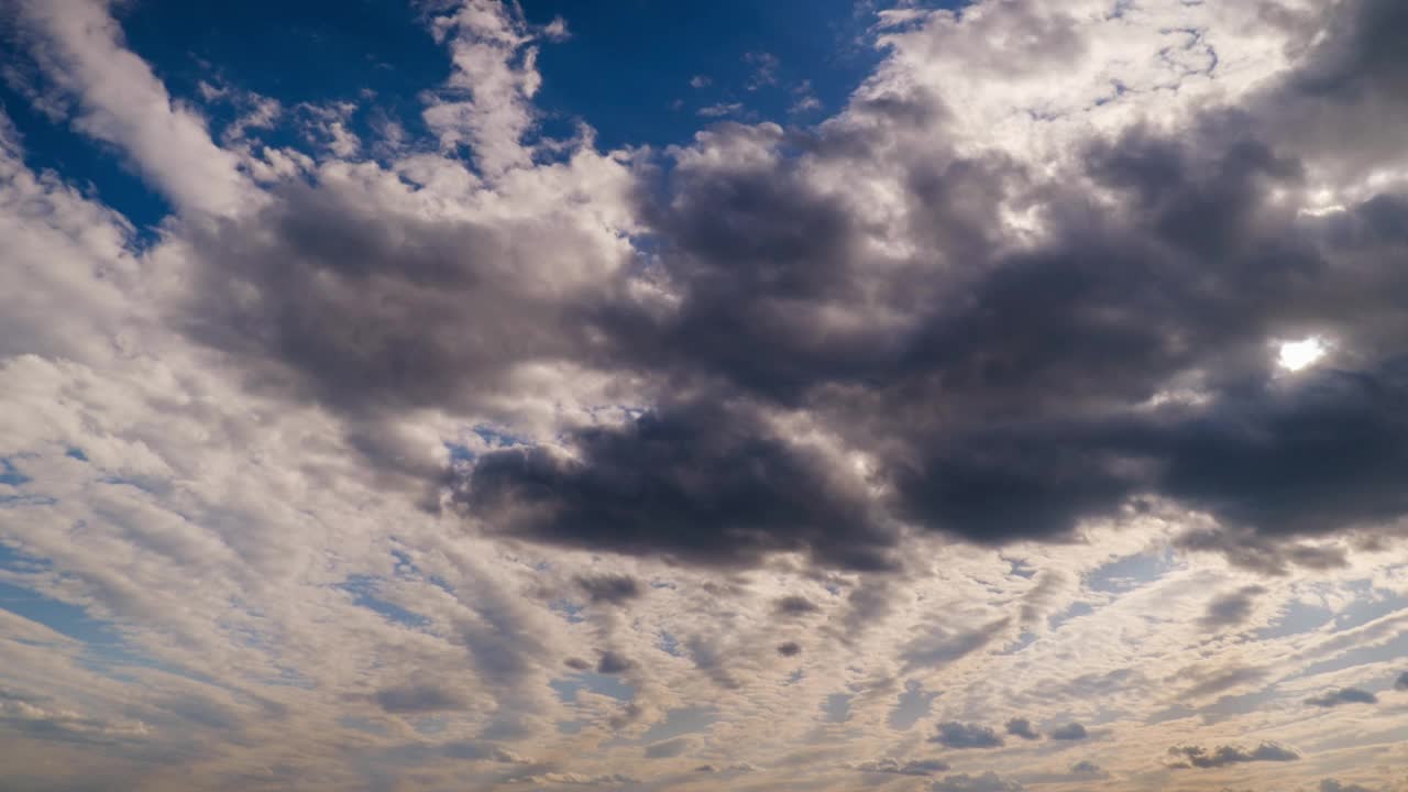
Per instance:
[[[1217,520],[1184,547],[1266,572],[1335,565],[1340,551],[1307,541],[1408,514],[1408,199],[1298,209],[1315,166],[1359,166],[1362,130],[1408,107],[1400,6],[1338,6],[1290,78],[1178,134],[1091,141],[1059,183],[936,156],[945,111],[919,97],[857,100],[873,123],[807,132],[717,125],[689,151],[718,156],[641,179],[650,255],[579,280],[542,269],[591,248],[566,225],[432,221],[348,185],[290,185],[183,230],[201,266],[179,320],[252,388],[335,410],[379,474],[428,505],[449,488],[501,536],[886,571],[904,523],[1060,541],[1153,495]],[[1052,52],[1079,47],[1069,24],[1032,20]],[[917,252],[877,258],[876,230],[811,163],[910,173],[887,234]],[[1039,216],[1039,242],[1005,238],[1014,204]],[[643,280],[670,307],[634,299]],[[1343,354],[1278,376],[1273,341],[1314,333]],[[496,448],[453,471],[394,431],[410,410],[491,414],[517,366],[569,362],[638,382],[650,410],[565,433],[572,454]],[[1169,399],[1183,388],[1198,399]]]

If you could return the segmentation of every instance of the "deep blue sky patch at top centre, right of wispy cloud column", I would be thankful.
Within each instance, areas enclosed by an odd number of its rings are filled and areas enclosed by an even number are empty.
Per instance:
[[[687,142],[708,107],[738,104],[728,116],[746,121],[815,121],[883,56],[867,32],[874,17],[853,0],[522,6],[529,21],[560,16],[573,34],[539,54],[539,106],[584,118],[603,148]],[[807,96],[817,107],[793,113]]]

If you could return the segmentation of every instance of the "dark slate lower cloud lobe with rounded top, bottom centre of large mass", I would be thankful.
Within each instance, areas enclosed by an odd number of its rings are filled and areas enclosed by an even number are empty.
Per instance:
[[[517,537],[620,552],[753,564],[811,551],[850,568],[894,564],[895,536],[873,505],[746,409],[680,404],[573,440],[577,459],[543,448],[486,455],[460,503]]]

